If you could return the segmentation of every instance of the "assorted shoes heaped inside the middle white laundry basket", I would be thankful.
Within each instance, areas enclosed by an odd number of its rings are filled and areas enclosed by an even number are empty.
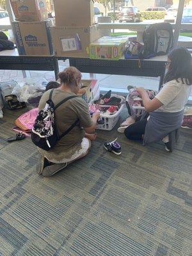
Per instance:
[[[93,104],[89,104],[90,115],[99,112],[103,116],[115,115],[120,109],[125,100],[120,99],[116,95],[111,95],[111,90],[106,94],[100,94],[98,100],[95,100]]]

